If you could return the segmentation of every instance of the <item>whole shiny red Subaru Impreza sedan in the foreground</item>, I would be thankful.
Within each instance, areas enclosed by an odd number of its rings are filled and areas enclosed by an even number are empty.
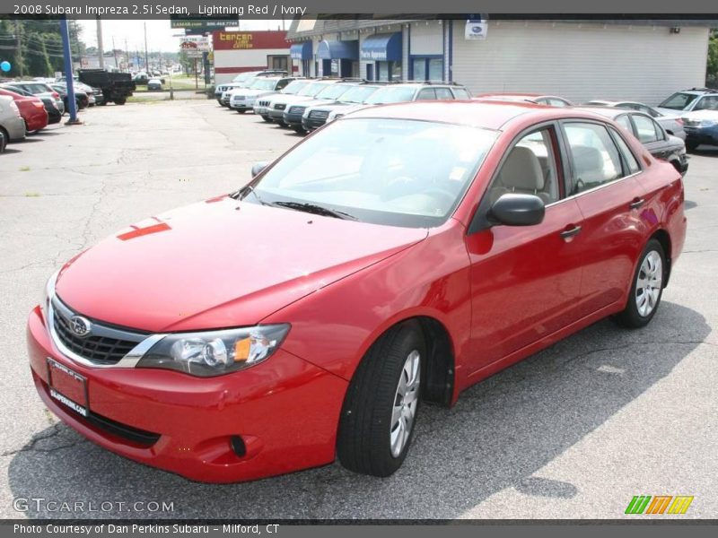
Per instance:
[[[573,109],[368,108],[253,172],[74,257],[29,320],[50,410],[197,481],[393,473],[422,402],[650,322],[686,234],[676,169]]]

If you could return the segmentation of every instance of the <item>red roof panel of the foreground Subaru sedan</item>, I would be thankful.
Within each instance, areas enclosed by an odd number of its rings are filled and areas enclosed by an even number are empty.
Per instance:
[[[618,113],[622,112],[625,113],[626,110],[618,110]],[[351,114],[351,117],[415,119],[494,130],[501,130],[505,124],[520,116],[526,116],[537,123],[564,117],[600,118],[590,110],[547,107],[528,101],[510,100],[413,101],[362,108]]]

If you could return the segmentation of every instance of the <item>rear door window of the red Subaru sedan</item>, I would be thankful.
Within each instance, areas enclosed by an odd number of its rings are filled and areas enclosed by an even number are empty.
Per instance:
[[[623,178],[621,158],[606,127],[572,122],[564,131],[573,164],[572,195]]]

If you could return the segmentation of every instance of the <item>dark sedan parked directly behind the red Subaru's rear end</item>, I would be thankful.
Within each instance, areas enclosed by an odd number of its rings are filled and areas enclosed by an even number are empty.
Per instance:
[[[613,107],[575,107],[610,117],[633,134],[656,159],[668,161],[681,175],[686,175],[688,161],[686,143],[678,136],[666,133],[655,119],[635,110]]]

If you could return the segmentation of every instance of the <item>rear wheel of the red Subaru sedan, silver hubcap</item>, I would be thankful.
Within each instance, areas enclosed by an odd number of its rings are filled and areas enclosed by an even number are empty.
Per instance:
[[[636,267],[626,308],[614,317],[618,325],[639,328],[655,316],[666,278],[666,254],[657,239],[651,239]]]

